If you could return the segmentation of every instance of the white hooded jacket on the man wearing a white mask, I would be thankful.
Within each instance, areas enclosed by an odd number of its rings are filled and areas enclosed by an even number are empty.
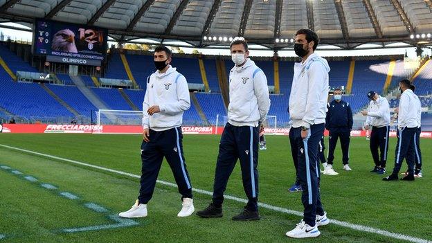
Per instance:
[[[229,75],[228,123],[258,126],[270,109],[269,87],[264,72],[250,59],[234,66]]]

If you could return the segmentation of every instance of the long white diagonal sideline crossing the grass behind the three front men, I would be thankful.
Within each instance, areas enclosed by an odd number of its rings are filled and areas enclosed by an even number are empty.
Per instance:
[[[44,156],[46,158],[56,159],[56,160],[59,160],[59,161],[66,161],[66,162],[69,162],[69,163],[75,163],[77,165],[83,165],[83,166],[86,166],[86,167],[89,167],[89,168],[95,168],[95,169],[98,169],[98,170],[105,170],[105,171],[113,172],[113,173],[116,173],[116,174],[122,174],[122,175],[125,175],[125,176],[128,176],[128,177],[134,177],[134,178],[138,178],[138,179],[141,178],[137,174],[132,174],[132,173],[128,173],[128,172],[124,172],[124,171],[120,171],[120,170],[113,170],[113,169],[109,169],[109,168],[104,168],[104,167],[101,167],[101,166],[98,166],[98,165],[91,165],[89,163],[83,163],[83,162],[80,162],[80,161],[73,161],[71,159],[64,159],[64,158],[60,158],[60,157],[53,156],[53,155],[50,155],[50,154],[42,154],[42,153],[39,153],[39,152],[35,152],[35,151],[31,151],[31,150],[24,150],[24,149],[21,149],[19,147],[11,147],[11,146],[8,146],[8,145],[3,145],[3,144],[0,144],[0,146],[1,147],[9,148],[11,150],[17,150],[17,151],[21,151],[21,152],[26,152],[28,154],[36,154],[36,155],[39,155],[39,156]],[[166,185],[166,186],[177,187],[176,184],[170,183],[170,182],[167,182],[167,181],[157,180],[157,182],[161,183],[163,185]],[[198,192],[198,193],[204,194],[204,195],[213,195],[213,192],[210,192],[208,190],[201,190],[201,189],[197,189],[197,188],[192,188],[192,190],[194,192]],[[246,199],[242,199],[242,198],[239,198],[239,197],[233,197],[233,196],[230,196],[230,195],[225,195],[225,198],[226,199],[231,199],[233,201],[239,201],[239,202],[242,202],[242,203],[246,203],[247,202]],[[280,208],[280,207],[277,207],[277,206],[271,206],[269,204],[263,204],[263,203],[258,203],[258,205],[260,207],[262,207],[262,208],[267,208],[267,209],[274,210],[274,211],[277,211],[277,212],[280,212],[280,213],[287,213],[287,214],[290,214],[290,215],[303,216],[302,212],[299,212],[299,211],[296,211],[296,210],[290,210],[290,209],[287,209],[287,208]],[[349,222],[343,222],[343,221],[339,221],[339,220],[336,220],[336,219],[330,219],[330,222],[332,224],[336,224],[336,225],[339,225],[339,226],[342,226],[342,227],[345,227],[345,228],[351,228],[351,229],[353,229],[355,231],[363,231],[363,232],[368,232],[368,233],[375,233],[377,235],[383,235],[385,237],[390,237],[390,238],[394,238],[394,239],[397,239],[397,240],[406,240],[408,242],[415,242],[415,243],[432,243],[432,241],[430,241],[430,240],[425,240],[425,239],[418,238],[418,237],[413,237],[413,236],[410,236],[410,235],[403,235],[403,234],[399,234],[399,233],[393,233],[393,232],[390,232],[390,231],[384,231],[384,230],[381,230],[379,228],[372,228],[372,227],[363,226],[363,225],[360,225],[360,224],[351,224]],[[87,227],[87,228],[89,228],[89,227]],[[75,232],[75,231],[73,231],[73,232]]]

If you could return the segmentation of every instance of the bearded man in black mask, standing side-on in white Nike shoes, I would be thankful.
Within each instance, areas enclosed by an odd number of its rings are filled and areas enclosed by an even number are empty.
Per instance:
[[[318,143],[324,134],[330,66],[314,53],[318,35],[312,30],[298,30],[294,51],[302,58],[294,65],[294,78],[289,96],[289,130],[291,153],[302,188],[303,219],[286,235],[294,238],[317,237],[318,226],[329,223],[321,205],[318,190]]]

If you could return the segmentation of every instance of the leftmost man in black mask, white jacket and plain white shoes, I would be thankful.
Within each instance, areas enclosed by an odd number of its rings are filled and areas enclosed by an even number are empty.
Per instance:
[[[143,102],[143,143],[141,144],[141,188],[134,206],[120,217],[146,217],[163,157],[171,167],[183,206],[177,215],[187,217],[195,208],[192,186],[183,156],[181,122],[190,107],[186,78],[170,65],[172,53],[166,46],[154,49],[156,71],[147,78]]]

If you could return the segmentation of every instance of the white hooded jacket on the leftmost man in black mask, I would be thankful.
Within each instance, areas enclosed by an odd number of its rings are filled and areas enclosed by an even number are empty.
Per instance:
[[[161,112],[150,116],[147,109],[159,105]],[[143,128],[165,131],[181,126],[183,111],[190,107],[186,78],[170,66],[165,73],[156,71],[147,78],[143,102]]]

